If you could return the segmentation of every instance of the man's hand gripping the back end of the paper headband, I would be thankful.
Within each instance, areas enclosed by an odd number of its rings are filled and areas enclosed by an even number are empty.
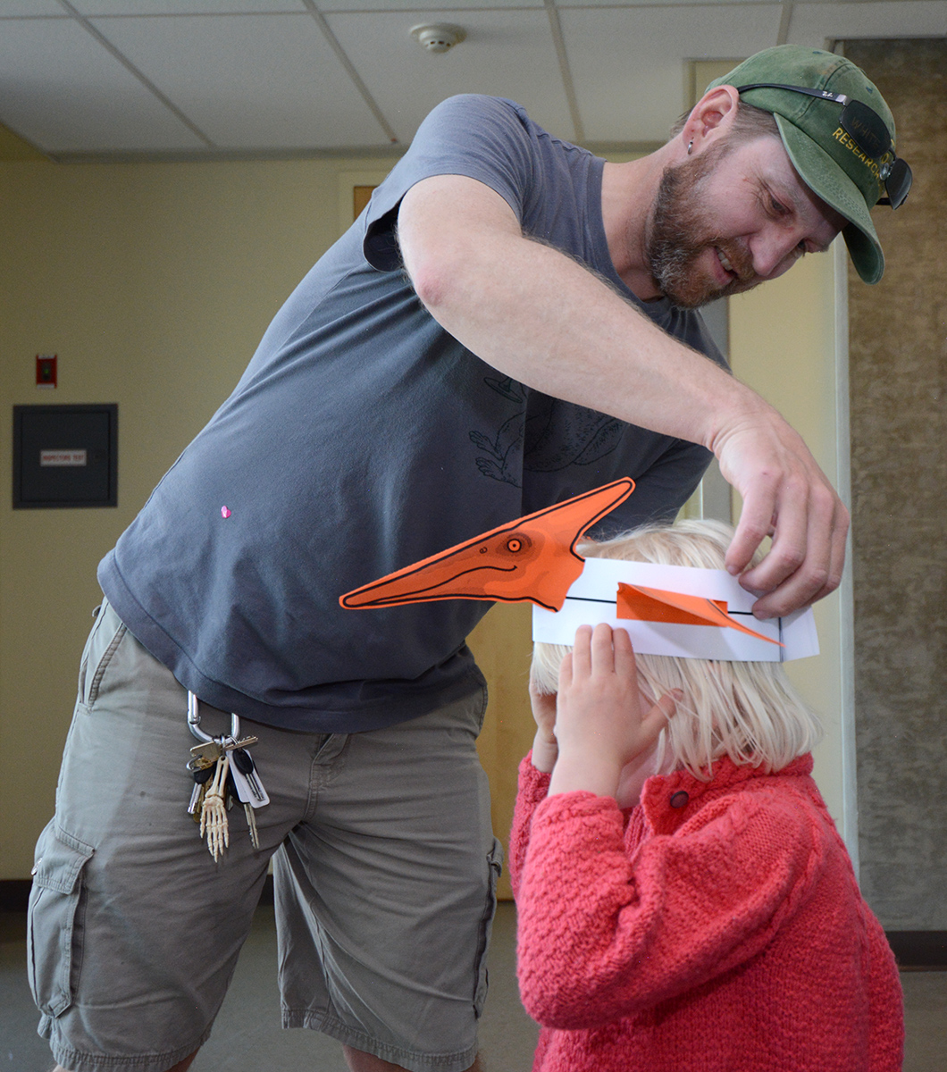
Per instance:
[[[848,510],[799,434],[774,410],[764,410],[721,435],[714,452],[743,496],[726,565],[761,597],[756,616],[787,614],[833,592],[845,565]],[[748,569],[767,536],[766,557]]]

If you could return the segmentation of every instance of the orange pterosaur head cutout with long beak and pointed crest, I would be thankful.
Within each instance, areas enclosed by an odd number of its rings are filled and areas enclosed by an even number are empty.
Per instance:
[[[561,610],[586,561],[575,551],[579,537],[634,490],[635,481],[623,477],[547,506],[347,592],[339,602],[355,609],[433,599],[530,600]]]

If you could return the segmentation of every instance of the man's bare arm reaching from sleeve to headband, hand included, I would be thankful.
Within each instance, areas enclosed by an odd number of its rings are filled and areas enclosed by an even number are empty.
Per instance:
[[[401,203],[404,266],[431,315],[504,375],[652,431],[700,443],[743,497],[727,554],[766,593],[760,617],[833,591],[848,513],[801,437],[755,391],[672,339],[607,284],[526,238],[506,202],[463,176],[414,185]]]

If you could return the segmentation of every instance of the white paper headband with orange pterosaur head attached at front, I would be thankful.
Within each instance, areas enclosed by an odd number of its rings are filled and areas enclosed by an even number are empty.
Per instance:
[[[343,595],[346,609],[438,599],[533,606],[533,640],[572,644],[580,625],[625,629],[642,655],[780,662],[818,654],[811,609],[758,622],[723,569],[583,559],[575,545],[634,491],[631,478],[492,528]],[[752,627],[750,625],[752,623]]]

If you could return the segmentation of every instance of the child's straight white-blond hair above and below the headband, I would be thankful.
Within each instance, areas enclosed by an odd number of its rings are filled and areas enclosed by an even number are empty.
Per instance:
[[[723,569],[733,535],[734,530],[720,521],[679,521],[646,525],[601,544],[585,541],[577,550],[585,557]],[[559,666],[568,651],[564,644],[533,645],[532,674],[541,691],[557,691]],[[677,713],[661,733],[661,766],[685,768],[707,780],[712,762],[729,756],[735,763],[778,771],[822,739],[818,718],[779,662],[668,655],[636,659],[639,684],[652,698],[672,688],[683,693]]]

